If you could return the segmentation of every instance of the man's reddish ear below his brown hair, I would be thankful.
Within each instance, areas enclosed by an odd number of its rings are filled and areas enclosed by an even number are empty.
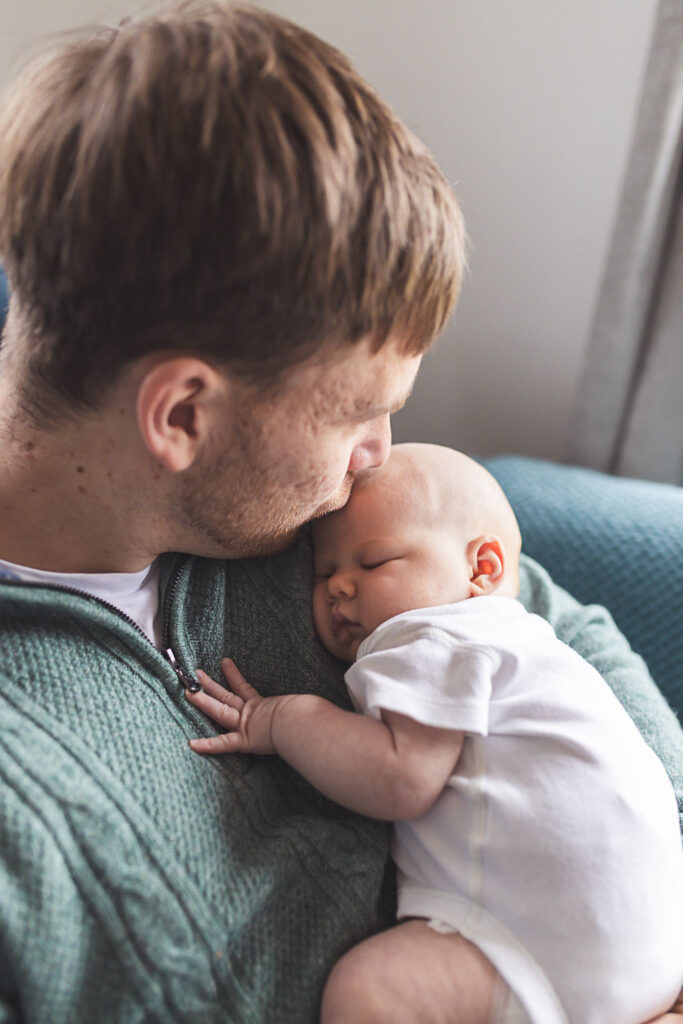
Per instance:
[[[157,362],[137,390],[137,423],[150,454],[180,473],[195,462],[224,412],[229,384],[203,359],[177,356]]]

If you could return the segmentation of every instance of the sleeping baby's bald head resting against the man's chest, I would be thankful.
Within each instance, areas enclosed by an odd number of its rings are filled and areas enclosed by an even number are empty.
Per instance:
[[[313,620],[344,662],[401,611],[517,595],[514,513],[490,473],[453,449],[395,444],[312,532]]]

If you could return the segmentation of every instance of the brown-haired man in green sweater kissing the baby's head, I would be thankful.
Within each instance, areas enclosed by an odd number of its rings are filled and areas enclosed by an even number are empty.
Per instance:
[[[458,207],[344,57],[249,8],[62,47],[0,134],[0,1020],[314,1020],[389,920],[386,831],[194,757],[183,690],[229,652],[343,702],[297,530],[386,459]]]

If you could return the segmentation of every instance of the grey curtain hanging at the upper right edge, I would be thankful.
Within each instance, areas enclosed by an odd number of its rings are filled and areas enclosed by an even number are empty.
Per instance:
[[[683,483],[683,3],[660,0],[567,461]]]

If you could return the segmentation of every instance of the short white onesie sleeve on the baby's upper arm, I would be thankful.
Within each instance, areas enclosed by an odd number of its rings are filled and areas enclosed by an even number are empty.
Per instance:
[[[395,711],[423,725],[487,735],[494,651],[399,617],[378,633],[344,677],[356,711],[371,718]]]

